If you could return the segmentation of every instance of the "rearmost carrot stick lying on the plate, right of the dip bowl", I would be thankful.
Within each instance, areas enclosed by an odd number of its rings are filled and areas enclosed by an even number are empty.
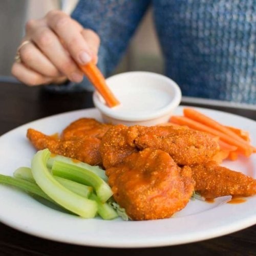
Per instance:
[[[232,132],[230,129],[222,125],[221,123],[218,123],[214,119],[211,119],[210,117],[200,113],[199,111],[196,111],[194,109],[185,108],[183,109],[183,113],[185,117],[188,117],[190,119],[193,119],[197,122],[200,122],[202,124],[205,124],[212,129],[215,129],[217,131],[220,131],[229,137],[232,137],[233,139],[239,140],[241,142],[244,142],[244,139],[242,139],[240,136],[238,136],[236,133]]]

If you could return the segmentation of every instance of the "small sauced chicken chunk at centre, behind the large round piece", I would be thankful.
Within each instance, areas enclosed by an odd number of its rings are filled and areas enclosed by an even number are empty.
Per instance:
[[[118,124],[103,136],[99,151],[105,168],[121,163],[126,156],[138,151],[134,143],[130,143],[128,129],[129,127]]]

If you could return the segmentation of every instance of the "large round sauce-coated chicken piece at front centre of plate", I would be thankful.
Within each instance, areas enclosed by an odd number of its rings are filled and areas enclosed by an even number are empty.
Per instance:
[[[181,171],[161,150],[147,148],[106,169],[114,199],[133,220],[169,218],[183,209],[194,191],[191,169]]]

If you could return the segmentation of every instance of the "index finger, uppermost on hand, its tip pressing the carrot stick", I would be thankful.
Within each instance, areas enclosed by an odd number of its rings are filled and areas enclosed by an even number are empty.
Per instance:
[[[73,59],[80,65],[91,61],[92,53],[81,35],[82,27],[63,12],[54,11],[48,14],[48,26],[61,38]]]

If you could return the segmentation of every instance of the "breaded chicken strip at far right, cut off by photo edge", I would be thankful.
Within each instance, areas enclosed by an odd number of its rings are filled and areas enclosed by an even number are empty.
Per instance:
[[[196,181],[195,191],[205,198],[256,195],[256,180],[214,161],[190,167]]]

